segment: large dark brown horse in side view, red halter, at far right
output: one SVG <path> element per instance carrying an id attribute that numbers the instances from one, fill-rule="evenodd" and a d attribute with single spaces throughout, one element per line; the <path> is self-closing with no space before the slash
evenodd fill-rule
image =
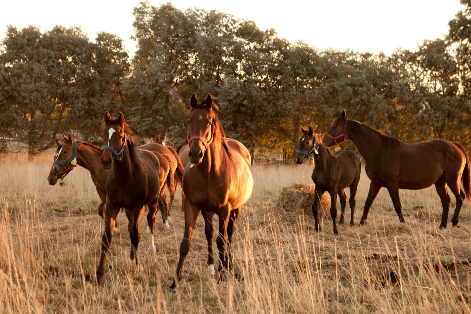
<path id="1" fill-rule="evenodd" d="M 407 144 L 348 118 L 343 110 L 323 141 L 329 147 L 345 140 L 352 140 L 357 145 L 365 159 L 366 175 L 371 179 L 360 224 L 365 223 L 368 210 L 382 187 L 388 189 L 399 221 L 403 223 L 399 189 L 420 190 L 432 184 L 435 184 L 443 206 L 440 228 L 447 227 L 450 207 L 447 185 L 456 198 L 451 221 L 454 226 L 458 224 L 464 198 L 471 199 L 470 160 L 461 144 L 447 140 Z M 460 179 L 464 193 L 460 190 Z"/>

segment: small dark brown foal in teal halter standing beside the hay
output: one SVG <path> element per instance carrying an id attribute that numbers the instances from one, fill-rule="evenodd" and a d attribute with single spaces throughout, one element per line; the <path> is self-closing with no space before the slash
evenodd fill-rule
<path id="1" fill-rule="evenodd" d="M 309 130 L 301 125 L 302 136 L 299 140 L 299 149 L 296 154 L 296 163 L 302 164 L 304 157 L 314 153 L 314 170 L 312 171 L 312 181 L 316 184 L 314 191 L 314 202 L 312 203 L 312 213 L 316 220 L 316 231 L 319 231 L 319 219 L 317 218 L 317 207 L 322 199 L 322 195 L 327 191 L 330 194 L 330 215 L 333 220 L 333 233 L 339 233 L 335 218 L 337 217 L 337 194 L 340 198 L 341 214 L 339 223 L 343 224 L 347 198 L 345 188 L 350 188 L 350 226 L 355 225 L 353 214 L 357 196 L 358 182 L 360 181 L 361 162 L 357 154 L 351 150 L 339 150 L 333 155 L 324 146 L 319 135 L 314 134 L 312 126 Z"/>

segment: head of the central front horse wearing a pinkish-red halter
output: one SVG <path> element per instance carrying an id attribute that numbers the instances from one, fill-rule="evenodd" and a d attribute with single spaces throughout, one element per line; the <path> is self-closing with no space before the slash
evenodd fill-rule
<path id="1" fill-rule="evenodd" d="M 192 164 L 201 164 L 204 153 L 216 134 L 216 116 L 212 112 L 212 97 L 208 94 L 205 101 L 198 105 L 196 94 L 191 96 L 191 111 L 187 119 L 187 139 L 190 145 L 188 156 Z"/>

